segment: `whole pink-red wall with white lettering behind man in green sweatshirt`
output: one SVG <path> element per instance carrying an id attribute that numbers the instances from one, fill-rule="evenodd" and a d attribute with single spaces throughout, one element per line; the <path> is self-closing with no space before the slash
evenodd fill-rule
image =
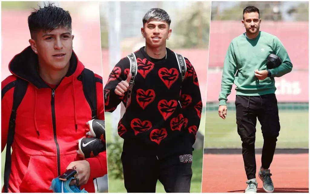
<path id="1" fill-rule="evenodd" d="M 228 30 L 229 29 L 229 30 Z M 309 23 L 262 21 L 260 30 L 276 35 L 293 63 L 289 74 L 276 79 L 278 102 L 309 101 Z M 244 33 L 241 21 L 211 21 L 209 69 L 223 68 L 228 46 L 233 38 Z M 207 102 L 218 102 L 222 73 L 208 74 Z M 228 102 L 235 100 L 235 85 Z"/>

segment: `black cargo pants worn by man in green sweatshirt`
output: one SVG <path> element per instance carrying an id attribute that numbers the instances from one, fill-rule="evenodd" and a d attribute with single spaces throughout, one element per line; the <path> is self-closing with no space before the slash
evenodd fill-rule
<path id="1" fill-rule="evenodd" d="M 248 179 L 255 178 L 255 133 L 259 120 L 263 133 L 262 167 L 268 169 L 276 149 L 280 131 L 279 111 L 275 94 L 236 96 L 237 130 L 242 141 L 242 156 Z"/>

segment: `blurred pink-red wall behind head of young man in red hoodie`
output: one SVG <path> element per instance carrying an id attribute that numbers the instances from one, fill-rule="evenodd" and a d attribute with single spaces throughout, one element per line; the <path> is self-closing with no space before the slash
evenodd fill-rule
<path id="1" fill-rule="evenodd" d="M 29 46 L 28 16 L 30 11 L 2 10 L 1 13 L 1 79 L 11 75 L 8 64 Z M 71 13 L 73 51 L 86 68 L 102 76 L 100 20 Z M 87 28 L 85 27 L 87 26 Z"/>

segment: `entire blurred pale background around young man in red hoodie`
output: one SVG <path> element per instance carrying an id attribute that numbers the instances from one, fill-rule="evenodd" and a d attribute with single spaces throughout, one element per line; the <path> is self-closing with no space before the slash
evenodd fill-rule
<path id="1" fill-rule="evenodd" d="M 47 3 L 47 2 L 45 2 Z M 100 49 L 100 18 L 98 2 L 54 2 L 68 10 L 72 18 L 73 51 L 86 68 L 102 76 Z M 30 33 L 28 16 L 33 8 L 43 6 L 44 2 L 1 2 L 1 81 L 11 73 L 8 64 L 18 53 L 29 46 Z M 84 37 L 84 38 L 82 38 Z M 1 153 L 1 186 L 5 150 Z M 107 176 L 97 178 L 96 192 L 108 192 Z"/>

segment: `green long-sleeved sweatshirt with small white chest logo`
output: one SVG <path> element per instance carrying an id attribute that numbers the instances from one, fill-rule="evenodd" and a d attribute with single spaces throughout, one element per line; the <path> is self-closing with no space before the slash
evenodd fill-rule
<path id="1" fill-rule="evenodd" d="M 271 53 L 279 56 L 282 64 L 270 70 L 271 77 L 258 80 L 254 71 L 267 70 L 267 57 Z M 219 105 L 226 105 L 233 83 L 236 85 L 237 95 L 261 96 L 275 93 L 274 77 L 281 77 L 292 68 L 290 57 L 276 36 L 260 31 L 256 38 L 249 39 L 245 33 L 241 34 L 232 40 L 225 57 Z"/>

